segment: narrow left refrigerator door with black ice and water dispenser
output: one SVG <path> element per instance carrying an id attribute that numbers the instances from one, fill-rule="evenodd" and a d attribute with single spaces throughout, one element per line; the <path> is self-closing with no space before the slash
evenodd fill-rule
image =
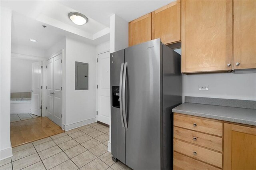
<path id="1" fill-rule="evenodd" d="M 119 105 L 122 63 L 124 63 L 124 50 L 110 54 L 111 152 L 114 158 L 125 164 L 125 128 L 122 127 Z"/>

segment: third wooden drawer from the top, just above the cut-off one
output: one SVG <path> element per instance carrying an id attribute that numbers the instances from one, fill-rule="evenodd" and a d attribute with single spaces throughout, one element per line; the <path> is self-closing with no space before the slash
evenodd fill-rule
<path id="1" fill-rule="evenodd" d="M 174 151 L 222 168 L 222 154 L 174 139 Z"/>

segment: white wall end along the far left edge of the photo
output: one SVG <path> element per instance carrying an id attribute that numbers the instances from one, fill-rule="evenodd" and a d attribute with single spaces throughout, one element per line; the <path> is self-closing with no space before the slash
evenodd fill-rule
<path id="1" fill-rule="evenodd" d="M 0 160 L 12 156 L 10 142 L 12 11 L 0 7 Z"/>

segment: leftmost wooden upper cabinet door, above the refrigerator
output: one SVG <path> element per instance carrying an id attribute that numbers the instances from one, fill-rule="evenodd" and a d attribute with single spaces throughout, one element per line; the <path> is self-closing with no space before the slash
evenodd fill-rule
<path id="1" fill-rule="evenodd" d="M 129 46 L 151 40 L 151 13 L 129 23 Z"/>

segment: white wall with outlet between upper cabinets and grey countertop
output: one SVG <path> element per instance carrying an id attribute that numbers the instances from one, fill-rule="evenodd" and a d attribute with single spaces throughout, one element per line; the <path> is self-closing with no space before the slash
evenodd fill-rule
<path id="1" fill-rule="evenodd" d="M 209 85 L 208 91 L 199 91 L 198 85 Z M 224 99 L 256 100 L 256 73 L 206 73 L 183 75 L 184 96 Z"/>

